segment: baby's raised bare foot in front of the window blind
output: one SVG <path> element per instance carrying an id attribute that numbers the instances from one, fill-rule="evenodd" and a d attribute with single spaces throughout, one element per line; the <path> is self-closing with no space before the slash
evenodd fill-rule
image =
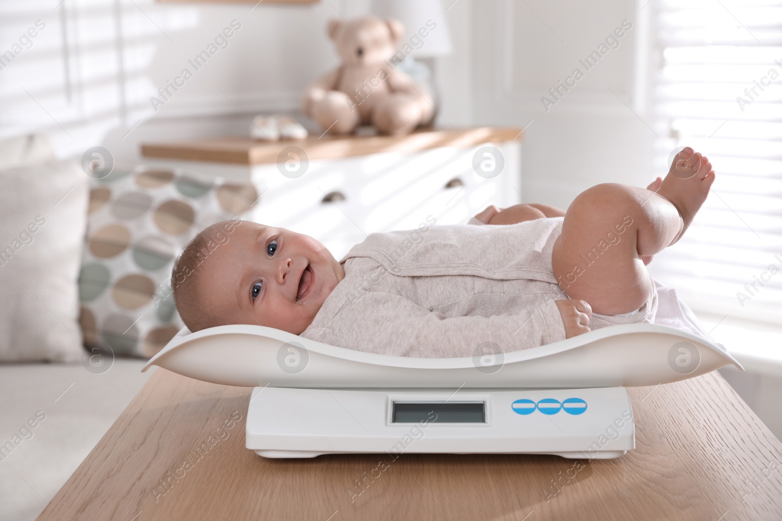
<path id="1" fill-rule="evenodd" d="M 682 219 L 681 230 L 671 244 L 679 241 L 684 231 L 690 227 L 692 219 L 708 196 L 714 178 L 712 163 L 690 147 L 684 148 L 673 158 L 671 170 L 656 191 L 676 206 Z"/>

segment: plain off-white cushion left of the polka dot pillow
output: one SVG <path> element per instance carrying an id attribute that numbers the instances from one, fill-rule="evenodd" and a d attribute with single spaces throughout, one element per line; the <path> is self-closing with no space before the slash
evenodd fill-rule
<path id="1" fill-rule="evenodd" d="M 30 150 L 20 156 L 41 158 Z M 81 357 L 77 277 L 88 180 L 77 161 L 0 170 L 0 362 Z"/>

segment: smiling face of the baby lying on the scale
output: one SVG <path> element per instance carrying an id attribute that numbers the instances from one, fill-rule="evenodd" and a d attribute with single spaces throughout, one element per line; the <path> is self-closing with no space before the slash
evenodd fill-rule
<path id="1" fill-rule="evenodd" d="M 210 253 L 199 295 L 225 324 L 260 324 L 300 334 L 345 277 L 314 238 L 242 221 Z"/>

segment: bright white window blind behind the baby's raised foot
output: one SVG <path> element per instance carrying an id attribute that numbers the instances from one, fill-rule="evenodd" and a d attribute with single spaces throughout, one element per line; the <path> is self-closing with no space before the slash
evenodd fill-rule
<path id="1" fill-rule="evenodd" d="M 780 324 L 782 2 L 656 0 L 646 9 L 659 163 L 689 145 L 717 174 L 687 234 L 650 272 L 696 311 Z"/>

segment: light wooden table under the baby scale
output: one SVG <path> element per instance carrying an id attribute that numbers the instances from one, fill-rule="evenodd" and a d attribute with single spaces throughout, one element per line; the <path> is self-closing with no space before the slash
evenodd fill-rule
<path id="1" fill-rule="evenodd" d="M 635 450 L 590 462 L 262 459 L 250 391 L 157 369 L 38 519 L 782 519 L 782 444 L 719 373 L 630 388 Z"/>

